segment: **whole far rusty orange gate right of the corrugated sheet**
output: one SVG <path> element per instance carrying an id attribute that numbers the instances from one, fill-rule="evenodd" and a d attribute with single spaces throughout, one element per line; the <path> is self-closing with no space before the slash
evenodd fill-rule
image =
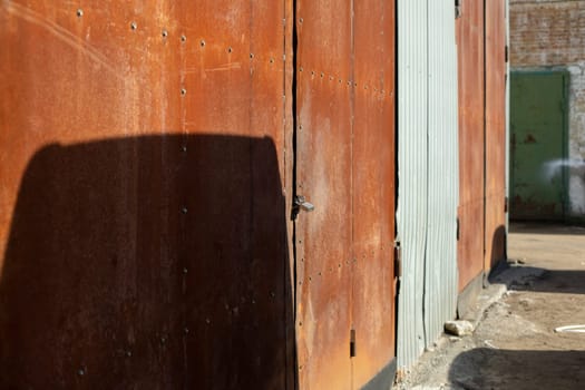
<path id="1" fill-rule="evenodd" d="M 460 7 L 459 291 L 505 257 L 506 236 L 506 1 Z"/>

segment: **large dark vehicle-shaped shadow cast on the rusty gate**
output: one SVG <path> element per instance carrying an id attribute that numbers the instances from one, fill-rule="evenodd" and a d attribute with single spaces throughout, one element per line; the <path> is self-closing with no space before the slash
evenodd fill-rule
<path id="1" fill-rule="evenodd" d="M 0 277 L 0 388 L 292 388 L 279 172 L 269 138 L 39 150 Z"/>

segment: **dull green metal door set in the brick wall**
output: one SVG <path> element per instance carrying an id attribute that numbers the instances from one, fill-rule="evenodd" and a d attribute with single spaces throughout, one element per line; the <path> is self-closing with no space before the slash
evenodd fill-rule
<path id="1" fill-rule="evenodd" d="M 563 220 L 568 74 L 513 72 L 510 81 L 510 217 Z"/>

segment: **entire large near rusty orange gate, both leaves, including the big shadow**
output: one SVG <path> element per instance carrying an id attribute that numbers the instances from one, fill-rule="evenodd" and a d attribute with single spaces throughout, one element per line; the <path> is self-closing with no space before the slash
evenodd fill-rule
<path id="1" fill-rule="evenodd" d="M 392 379 L 393 2 L 294 7 L 0 4 L 0 388 Z"/>

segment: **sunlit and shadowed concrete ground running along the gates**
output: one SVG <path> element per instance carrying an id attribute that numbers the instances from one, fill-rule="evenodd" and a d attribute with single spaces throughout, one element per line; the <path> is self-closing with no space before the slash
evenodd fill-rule
<path id="1" fill-rule="evenodd" d="M 396 389 L 585 389 L 585 228 L 513 224 L 474 334 L 445 335 Z M 506 289 L 504 289 L 506 286 Z"/>

